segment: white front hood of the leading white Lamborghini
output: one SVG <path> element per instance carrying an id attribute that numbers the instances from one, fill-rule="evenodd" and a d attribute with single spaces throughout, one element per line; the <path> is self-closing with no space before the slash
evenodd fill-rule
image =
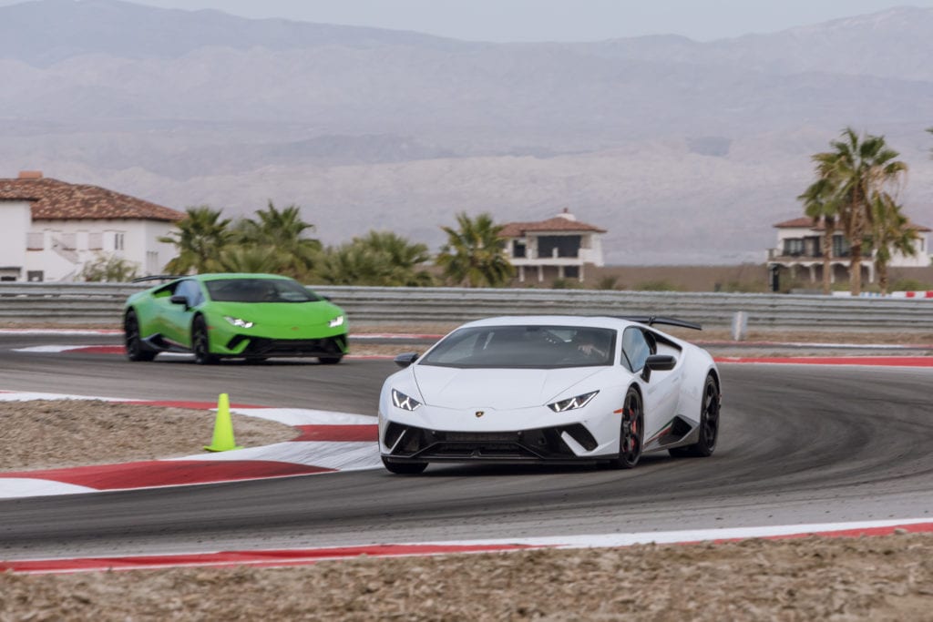
<path id="1" fill-rule="evenodd" d="M 560 369 L 461 369 L 412 366 L 418 390 L 440 408 L 530 408 L 542 406 L 606 367 Z"/>

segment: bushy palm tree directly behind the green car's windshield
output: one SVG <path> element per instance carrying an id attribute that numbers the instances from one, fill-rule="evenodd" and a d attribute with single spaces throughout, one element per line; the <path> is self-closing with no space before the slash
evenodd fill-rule
<path id="1" fill-rule="evenodd" d="M 306 236 L 314 226 L 301 220 L 297 205 L 283 210 L 269 201 L 265 210 L 257 210 L 257 220 L 245 218 L 237 224 L 236 240 L 245 246 L 275 249 L 278 256 L 276 272 L 303 278 L 313 269 L 321 251 L 321 242 Z"/>

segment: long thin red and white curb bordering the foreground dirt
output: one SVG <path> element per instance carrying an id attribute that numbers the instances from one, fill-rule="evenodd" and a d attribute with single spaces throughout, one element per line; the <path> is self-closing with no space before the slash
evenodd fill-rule
<path id="1" fill-rule="evenodd" d="M 347 560 L 367 557 L 416 557 L 457 553 L 511 552 L 532 548 L 618 548 L 660 544 L 689 545 L 702 542 L 726 543 L 749 538 L 786 539 L 811 535 L 826 537 L 861 537 L 894 533 L 933 532 L 933 522 L 926 518 L 874 520 L 811 525 L 780 525 L 680 532 L 610 533 L 554 536 L 543 538 L 508 538 L 462 540 L 412 544 L 371 544 L 324 548 L 289 548 L 273 550 L 213 551 L 173 555 L 135 555 L 124 557 L 0 560 L 0 572 L 20 574 L 65 574 L 113 570 L 152 570 L 179 567 L 283 567 L 313 564 L 324 560 Z"/>

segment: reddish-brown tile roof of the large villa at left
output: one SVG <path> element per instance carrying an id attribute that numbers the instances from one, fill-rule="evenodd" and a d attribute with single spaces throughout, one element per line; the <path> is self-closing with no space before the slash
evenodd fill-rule
<path id="1" fill-rule="evenodd" d="M 176 222 L 185 214 L 103 187 L 50 177 L 0 179 L 0 200 L 33 201 L 33 220 L 133 219 Z"/>

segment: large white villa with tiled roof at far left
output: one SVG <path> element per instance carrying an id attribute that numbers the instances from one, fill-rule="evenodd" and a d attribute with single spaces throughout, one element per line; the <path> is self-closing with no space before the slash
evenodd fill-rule
<path id="1" fill-rule="evenodd" d="M 0 178 L 0 280 L 76 281 L 100 256 L 159 274 L 174 246 L 159 242 L 185 214 L 37 171 Z"/>

